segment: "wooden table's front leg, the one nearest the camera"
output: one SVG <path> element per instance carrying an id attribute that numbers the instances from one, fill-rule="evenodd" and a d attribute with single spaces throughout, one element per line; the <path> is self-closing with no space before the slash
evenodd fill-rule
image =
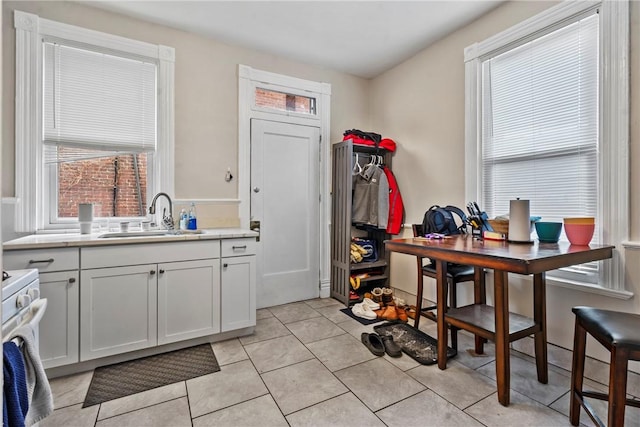
<path id="1" fill-rule="evenodd" d="M 506 271 L 494 271 L 494 298 L 496 316 L 496 380 L 498 401 L 509 406 L 510 360 L 509 360 L 509 290 Z"/>

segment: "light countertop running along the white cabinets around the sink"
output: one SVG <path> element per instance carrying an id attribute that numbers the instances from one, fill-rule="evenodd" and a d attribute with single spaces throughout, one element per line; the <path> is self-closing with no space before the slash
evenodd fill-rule
<path id="1" fill-rule="evenodd" d="M 138 243 L 164 243 L 197 240 L 233 239 L 241 237 L 257 237 L 255 231 L 243 228 L 215 228 L 201 230 L 202 233 L 166 234 L 160 236 L 132 236 L 117 238 L 101 238 L 104 233 L 80 234 L 32 234 L 9 240 L 2 244 L 3 250 L 69 248 L 86 246 L 129 245 Z"/>

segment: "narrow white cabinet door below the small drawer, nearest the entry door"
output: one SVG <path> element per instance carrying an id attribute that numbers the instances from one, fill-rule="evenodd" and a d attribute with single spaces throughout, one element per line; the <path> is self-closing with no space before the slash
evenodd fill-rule
<path id="1" fill-rule="evenodd" d="M 256 256 L 222 258 L 222 332 L 256 324 Z"/>

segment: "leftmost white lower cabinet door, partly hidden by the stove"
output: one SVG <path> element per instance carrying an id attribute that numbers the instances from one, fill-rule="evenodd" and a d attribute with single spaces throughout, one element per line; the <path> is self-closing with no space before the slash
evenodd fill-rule
<path id="1" fill-rule="evenodd" d="M 40 273 L 40 296 L 47 310 L 39 324 L 40 358 L 45 369 L 78 363 L 78 270 Z"/>

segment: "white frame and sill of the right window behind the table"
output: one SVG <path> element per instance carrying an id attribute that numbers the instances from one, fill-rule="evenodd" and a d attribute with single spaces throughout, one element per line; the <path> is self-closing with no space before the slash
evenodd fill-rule
<path id="1" fill-rule="evenodd" d="M 564 1 L 482 42 L 468 46 L 465 60 L 465 197 L 480 200 L 482 61 L 565 25 L 598 9 L 600 14 L 598 218 L 600 241 L 615 245 L 613 258 L 602 262 L 598 284 L 553 277 L 548 283 L 629 298 L 625 290 L 622 242 L 629 234 L 629 4 L 628 0 Z"/>

